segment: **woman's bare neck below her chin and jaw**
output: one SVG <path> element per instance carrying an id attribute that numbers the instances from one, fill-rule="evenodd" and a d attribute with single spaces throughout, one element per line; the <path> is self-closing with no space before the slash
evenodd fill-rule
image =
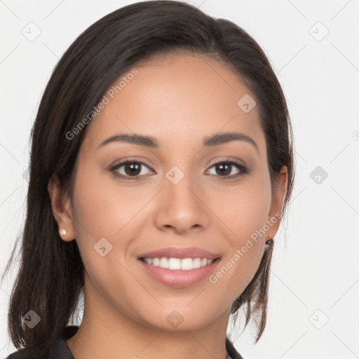
<path id="1" fill-rule="evenodd" d="M 226 359 L 228 320 L 226 311 L 193 330 L 161 329 L 138 323 L 85 293 L 82 323 L 67 345 L 76 359 Z"/>

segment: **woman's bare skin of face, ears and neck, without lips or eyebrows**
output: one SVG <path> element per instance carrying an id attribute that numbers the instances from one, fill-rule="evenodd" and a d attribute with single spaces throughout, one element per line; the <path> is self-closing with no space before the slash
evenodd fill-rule
<path id="1" fill-rule="evenodd" d="M 255 275 L 280 221 L 214 284 L 205 278 L 190 287 L 163 285 L 142 269 L 137 255 L 195 246 L 221 257 L 217 272 L 280 212 L 287 168 L 271 189 L 257 107 L 246 114 L 237 105 L 243 95 L 254 95 L 221 63 L 168 55 L 136 68 L 137 76 L 86 128 L 74 197 L 55 177 L 48 183 L 54 217 L 67 230 L 62 240 L 76 238 L 86 268 L 83 321 L 67 344 L 76 359 L 224 359 L 231 304 Z M 205 137 L 227 132 L 250 136 L 258 150 L 239 140 L 203 147 Z M 149 135 L 159 146 L 118 141 L 97 148 L 119 133 Z M 146 163 L 138 179 L 124 166 L 110 171 L 127 159 Z M 229 159 L 249 172 L 238 175 L 233 166 L 222 175 L 215 164 Z M 178 184 L 165 177 L 173 165 L 184 174 Z M 116 171 L 128 177 L 116 177 Z M 100 238 L 112 245 L 105 257 L 93 248 Z M 166 320 L 174 310 L 183 318 L 176 328 Z"/>

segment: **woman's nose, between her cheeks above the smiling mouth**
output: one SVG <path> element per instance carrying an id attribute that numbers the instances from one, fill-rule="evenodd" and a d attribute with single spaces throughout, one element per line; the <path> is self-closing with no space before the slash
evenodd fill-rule
<path id="1" fill-rule="evenodd" d="M 162 231 L 189 233 L 208 228 L 210 210 L 205 195 L 190 176 L 185 175 L 177 184 L 166 177 L 163 190 L 157 198 L 155 223 Z"/>

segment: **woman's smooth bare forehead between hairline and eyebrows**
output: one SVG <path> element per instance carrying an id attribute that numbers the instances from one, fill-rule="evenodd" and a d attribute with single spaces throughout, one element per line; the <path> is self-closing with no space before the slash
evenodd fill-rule
<path id="1" fill-rule="evenodd" d="M 257 106 L 248 113 L 238 106 L 243 96 L 254 95 L 222 63 L 198 55 L 158 55 L 134 68 L 135 76 L 127 76 L 130 69 L 109 88 L 109 103 L 89 125 L 87 146 L 116 133 L 153 135 L 171 144 L 236 130 L 264 140 L 258 138 L 263 134 Z"/>

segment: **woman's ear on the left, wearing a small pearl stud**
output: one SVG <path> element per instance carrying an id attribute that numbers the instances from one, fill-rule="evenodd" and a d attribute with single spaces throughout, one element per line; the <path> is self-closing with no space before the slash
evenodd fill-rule
<path id="1" fill-rule="evenodd" d="M 59 233 L 59 236 L 63 241 L 72 241 L 76 238 L 76 233 L 72 221 L 71 201 L 62 190 L 60 180 L 56 175 L 53 175 L 48 181 L 48 194 L 59 231 L 60 229 L 66 230 L 66 234 L 60 235 Z"/>

